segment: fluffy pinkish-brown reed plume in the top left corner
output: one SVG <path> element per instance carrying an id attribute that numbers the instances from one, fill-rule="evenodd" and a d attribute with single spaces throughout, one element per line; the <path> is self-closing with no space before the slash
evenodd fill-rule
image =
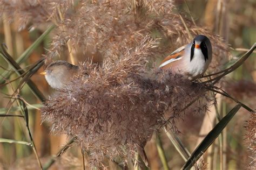
<path id="1" fill-rule="evenodd" d="M 0 2 L 0 15 L 5 13 L 5 18 L 10 22 L 16 23 L 19 31 L 26 27 L 32 28 L 45 23 L 57 23 L 59 20 L 57 9 L 60 8 L 62 12 L 66 12 L 71 8 L 73 2 L 65 1 L 35 1 L 35 0 L 21 0 L 21 1 L 6 1 Z"/>

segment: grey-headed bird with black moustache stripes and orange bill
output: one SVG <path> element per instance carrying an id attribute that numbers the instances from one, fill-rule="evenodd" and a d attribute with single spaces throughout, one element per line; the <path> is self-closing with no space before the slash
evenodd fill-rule
<path id="1" fill-rule="evenodd" d="M 190 44 L 167 56 L 159 68 L 170 69 L 173 73 L 183 74 L 193 81 L 203 76 L 211 61 L 211 41 L 206 36 L 199 35 Z"/>

